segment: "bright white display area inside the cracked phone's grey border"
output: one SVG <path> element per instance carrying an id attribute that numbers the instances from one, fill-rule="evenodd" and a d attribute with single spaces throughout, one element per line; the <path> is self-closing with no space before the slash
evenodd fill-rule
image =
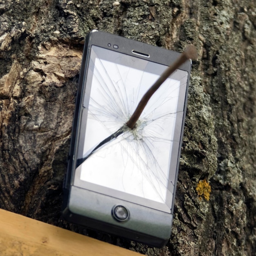
<path id="1" fill-rule="evenodd" d="M 95 58 L 83 157 L 128 121 L 158 77 Z M 126 128 L 78 166 L 80 179 L 164 203 L 179 90 L 180 81 L 167 79 L 148 101 L 137 128 Z"/>

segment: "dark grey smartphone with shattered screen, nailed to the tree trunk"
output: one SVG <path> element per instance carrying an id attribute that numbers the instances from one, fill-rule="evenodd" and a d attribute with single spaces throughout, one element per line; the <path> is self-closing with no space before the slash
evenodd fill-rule
<path id="1" fill-rule="evenodd" d="M 155 247 L 166 244 L 191 61 L 153 94 L 133 129 L 125 124 L 179 55 L 102 31 L 87 35 L 64 181 L 66 220 Z"/>

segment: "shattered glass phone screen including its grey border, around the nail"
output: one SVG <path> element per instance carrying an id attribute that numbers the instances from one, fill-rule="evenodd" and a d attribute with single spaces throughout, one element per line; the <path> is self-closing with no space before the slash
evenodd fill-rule
<path id="1" fill-rule="evenodd" d="M 165 69 L 92 46 L 74 185 L 170 212 L 188 72 L 175 71 L 150 98 L 135 128 L 125 125 Z M 120 135 L 106 140 L 121 127 Z"/>

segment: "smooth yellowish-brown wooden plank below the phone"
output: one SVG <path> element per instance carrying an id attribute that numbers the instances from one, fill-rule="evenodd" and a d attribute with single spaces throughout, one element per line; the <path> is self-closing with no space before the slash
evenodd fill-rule
<path id="1" fill-rule="evenodd" d="M 0 209 L 1 256 L 139 256 L 115 245 Z"/>

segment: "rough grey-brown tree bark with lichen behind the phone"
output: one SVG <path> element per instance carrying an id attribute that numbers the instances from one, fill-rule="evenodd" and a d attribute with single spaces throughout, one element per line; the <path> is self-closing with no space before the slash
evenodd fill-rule
<path id="1" fill-rule="evenodd" d="M 162 249 L 61 218 L 84 36 L 94 28 L 198 49 L 173 233 Z M 0 207 L 147 255 L 255 255 L 255 63 L 255 0 L 1 0 Z M 203 179 L 209 201 L 195 190 Z"/>

